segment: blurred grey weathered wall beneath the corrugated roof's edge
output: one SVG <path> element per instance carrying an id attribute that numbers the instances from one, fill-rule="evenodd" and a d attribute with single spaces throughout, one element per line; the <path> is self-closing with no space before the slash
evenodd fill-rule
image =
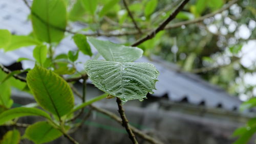
<path id="1" fill-rule="evenodd" d="M 33 102 L 29 98 L 14 98 L 17 104 L 27 104 Z M 116 114 L 117 106 L 113 105 L 115 100 L 110 103 L 96 103 L 96 105 L 106 108 Z M 112 103 L 113 102 L 113 103 Z M 155 107 L 158 107 L 157 109 Z M 178 108 L 180 107 L 180 108 Z M 196 108 L 181 111 L 181 106 L 173 106 L 170 109 L 159 107 L 154 104 L 144 108 L 125 106 L 125 112 L 129 121 L 135 127 L 145 133 L 161 139 L 164 143 L 173 144 L 228 144 L 233 142 L 231 134 L 234 129 L 242 126 L 245 118 L 233 118 L 231 114 L 218 114 L 206 112 L 196 114 Z M 193 113 L 194 111 L 194 113 Z M 20 123 L 32 124 L 42 119 L 37 117 L 24 117 Z M 0 137 L 9 130 L 10 127 L 0 127 Z M 24 130 L 20 128 L 20 130 Z M 130 144 L 124 128 L 113 121 L 110 117 L 98 112 L 93 112 L 90 118 L 83 125 L 82 129 L 72 134 L 79 143 L 122 143 Z M 138 138 L 139 143 L 148 143 Z M 23 143 L 31 143 L 23 140 Z M 60 137 L 50 143 L 70 143 L 65 137 Z"/>

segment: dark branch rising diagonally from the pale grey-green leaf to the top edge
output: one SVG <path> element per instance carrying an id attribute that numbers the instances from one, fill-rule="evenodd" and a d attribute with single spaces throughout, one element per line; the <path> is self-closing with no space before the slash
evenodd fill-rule
<path id="1" fill-rule="evenodd" d="M 189 0 L 184 0 L 175 10 L 172 14 L 170 14 L 170 16 L 164 20 L 161 25 L 156 29 L 154 30 L 153 32 L 151 32 L 150 34 L 148 34 L 147 36 L 145 36 L 144 38 L 138 40 L 137 42 L 135 42 L 134 44 L 132 44 L 132 46 L 137 46 L 141 43 L 143 43 L 144 41 L 146 40 L 149 40 L 149 39 L 152 39 L 153 37 L 156 36 L 156 34 L 162 30 L 164 30 L 165 26 L 170 22 L 172 21 L 176 15 L 183 9 L 183 7 L 188 3 Z"/>

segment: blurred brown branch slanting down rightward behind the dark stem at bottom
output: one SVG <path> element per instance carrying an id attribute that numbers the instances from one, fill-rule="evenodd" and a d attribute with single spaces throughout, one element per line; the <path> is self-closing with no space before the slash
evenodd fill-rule
<path id="1" fill-rule="evenodd" d="M 98 111 L 102 114 L 108 115 L 110 118 L 112 118 L 113 120 L 115 120 L 119 124 L 122 124 L 122 119 L 119 116 L 117 116 L 115 113 L 110 112 L 110 111 L 105 110 L 105 109 L 102 109 L 102 108 L 99 108 L 99 107 L 96 107 L 94 105 L 90 105 L 90 106 L 94 110 L 96 110 L 96 111 Z M 137 134 L 139 137 L 147 140 L 148 142 L 151 142 L 151 143 L 154 143 L 154 144 L 163 144 L 163 142 L 160 142 L 159 140 L 157 140 L 157 139 L 155 139 L 151 136 L 146 135 L 145 133 L 143 133 L 142 131 L 138 130 L 137 128 L 131 126 L 130 124 L 129 124 L 129 126 L 135 134 Z"/>

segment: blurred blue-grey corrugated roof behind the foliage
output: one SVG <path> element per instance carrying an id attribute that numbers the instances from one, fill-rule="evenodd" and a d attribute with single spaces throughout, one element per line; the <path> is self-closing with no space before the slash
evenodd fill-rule
<path id="1" fill-rule="evenodd" d="M 12 33 L 18 35 L 26 35 L 32 31 L 31 23 L 27 20 L 29 9 L 21 0 L 0 0 L 0 29 L 8 29 Z M 79 28 L 76 23 L 72 24 L 73 27 Z M 110 39 L 100 37 L 102 39 Z M 112 38 L 110 40 L 115 40 Z M 67 36 L 56 48 L 56 55 L 60 53 L 67 53 L 69 50 L 76 49 L 71 36 Z M 0 62 L 4 65 L 10 65 L 15 62 L 19 57 L 32 57 L 33 47 L 23 47 L 16 51 L 4 53 L 0 50 Z M 93 53 L 97 53 L 93 49 Z M 89 56 L 79 55 L 78 61 L 85 62 Z M 231 97 L 224 90 L 217 86 L 211 85 L 196 75 L 181 73 L 177 66 L 163 61 L 158 57 L 152 58 L 154 61 L 142 57 L 137 62 L 150 62 L 153 63 L 160 72 L 159 82 L 156 83 L 155 97 L 163 97 L 167 94 L 171 101 L 182 101 L 186 99 L 188 103 L 199 105 L 204 103 L 206 107 L 218 107 L 227 110 L 237 109 L 241 101 L 235 97 Z M 32 68 L 34 63 L 31 61 L 22 62 L 23 68 Z M 83 69 L 83 64 L 77 65 L 78 70 Z"/>

